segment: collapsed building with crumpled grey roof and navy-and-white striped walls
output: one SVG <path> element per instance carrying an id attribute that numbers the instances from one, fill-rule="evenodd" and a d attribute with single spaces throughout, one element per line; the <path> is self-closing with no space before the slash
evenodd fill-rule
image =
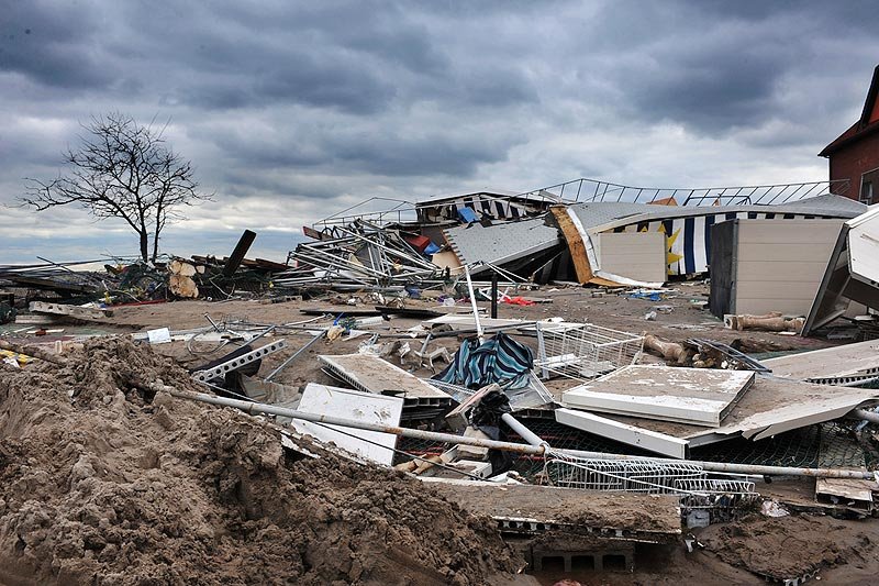
<path id="1" fill-rule="evenodd" d="M 830 189 L 830 181 L 659 189 L 578 179 L 518 195 L 412 203 L 374 198 L 305 228 L 313 241 L 290 253 L 296 268 L 278 283 L 338 283 L 343 276 L 380 281 L 391 276 L 379 267 L 389 255 L 399 265 L 397 281 L 458 275 L 467 266 L 471 275 L 501 270 L 544 284 L 658 286 L 706 274 L 711 231 L 723 222 L 838 221 L 866 211 Z M 338 259 L 346 272 L 327 272 Z"/>

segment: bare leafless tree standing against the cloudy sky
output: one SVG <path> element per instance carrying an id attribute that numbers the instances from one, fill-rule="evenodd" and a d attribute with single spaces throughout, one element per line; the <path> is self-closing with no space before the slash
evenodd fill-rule
<path id="1" fill-rule="evenodd" d="M 211 197 L 197 191 L 191 162 L 167 145 L 164 128 L 119 112 L 82 128 L 81 145 L 64 153 L 69 170 L 51 181 L 26 178 L 20 201 L 37 211 L 75 203 L 98 219 L 120 218 L 137 233 L 143 261 L 155 262 L 163 229 L 185 219 L 180 208 Z"/>

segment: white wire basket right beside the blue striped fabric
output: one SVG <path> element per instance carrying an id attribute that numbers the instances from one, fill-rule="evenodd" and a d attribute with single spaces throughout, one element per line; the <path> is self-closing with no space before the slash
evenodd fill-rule
<path id="1" fill-rule="evenodd" d="M 537 323 L 535 367 L 544 378 L 550 373 L 588 380 L 623 366 L 641 356 L 644 336 L 591 323 L 546 325 Z"/>

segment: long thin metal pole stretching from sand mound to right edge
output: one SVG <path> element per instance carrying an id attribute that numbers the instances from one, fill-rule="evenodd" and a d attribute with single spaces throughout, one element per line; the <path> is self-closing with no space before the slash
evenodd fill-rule
<path id="1" fill-rule="evenodd" d="M 276 407 L 274 405 L 264 405 L 251 401 L 241 401 L 237 399 L 227 399 L 225 397 L 215 397 L 204 392 L 188 392 L 177 390 L 174 387 L 166 385 L 152 384 L 147 388 L 154 391 L 165 391 L 173 397 L 181 399 L 190 399 L 194 401 L 208 402 L 211 405 L 220 405 L 223 407 L 235 407 L 242 411 L 254 414 L 264 413 L 271 416 L 289 417 L 291 419 L 300 419 L 303 421 L 311 421 L 314 423 L 326 423 L 330 425 L 342 425 L 345 428 L 363 429 L 369 431 L 380 431 L 383 433 L 392 433 L 403 438 L 414 438 L 419 440 L 430 440 L 436 442 L 455 443 L 463 445 L 476 445 L 480 447 L 488 447 L 490 450 L 502 450 L 505 452 L 516 452 L 527 455 L 552 456 L 553 454 L 564 456 L 582 457 L 588 460 L 628 460 L 638 462 L 657 462 L 665 464 L 693 464 L 701 466 L 708 472 L 727 472 L 733 474 L 747 474 L 747 475 L 761 475 L 761 476 L 812 476 L 821 478 L 860 478 L 874 479 L 874 474 L 870 472 L 853 471 L 853 469 L 838 469 L 838 468 L 794 468 L 785 466 L 753 466 L 748 464 L 725 464 L 722 462 L 699 462 L 693 460 L 672 460 L 672 458 L 656 458 L 645 456 L 630 456 L 623 454 L 607 454 L 602 452 L 582 452 L 579 450 L 555 450 L 549 447 L 531 430 L 524 425 L 523 430 L 527 430 L 527 434 L 533 441 L 541 441 L 541 445 L 526 445 L 512 442 L 499 442 L 496 440 L 480 440 L 478 438 L 465 438 L 463 435 L 455 435 L 452 433 L 438 433 L 435 431 L 422 431 L 409 428 L 399 428 L 393 425 L 382 425 L 380 423 L 367 423 L 365 421 L 352 421 L 332 416 L 320 416 L 314 413 L 304 413 L 296 409 L 286 409 L 283 407 Z M 511 418 L 512 419 L 512 418 Z M 513 419 L 515 421 L 515 419 Z M 515 423 L 519 423 L 515 421 Z M 515 424 L 514 423 L 514 424 Z M 508 422 L 508 424 L 510 424 Z M 521 423 L 520 423 L 521 425 Z M 511 425 L 512 427 L 512 425 Z M 515 429 L 514 429 L 515 430 Z M 515 430 L 519 432 L 519 430 Z M 525 435 L 522 435 L 523 438 Z"/>

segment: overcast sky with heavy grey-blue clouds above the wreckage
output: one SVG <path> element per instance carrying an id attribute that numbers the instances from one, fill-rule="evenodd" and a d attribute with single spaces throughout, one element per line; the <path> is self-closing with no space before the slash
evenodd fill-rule
<path id="1" fill-rule="evenodd" d="M 0 204 L 113 110 L 170 119 L 215 192 L 166 230 L 181 255 L 252 229 L 282 261 L 370 196 L 820 180 L 877 63 L 875 2 L 0 0 Z M 0 263 L 135 252 L 0 207 Z"/>

